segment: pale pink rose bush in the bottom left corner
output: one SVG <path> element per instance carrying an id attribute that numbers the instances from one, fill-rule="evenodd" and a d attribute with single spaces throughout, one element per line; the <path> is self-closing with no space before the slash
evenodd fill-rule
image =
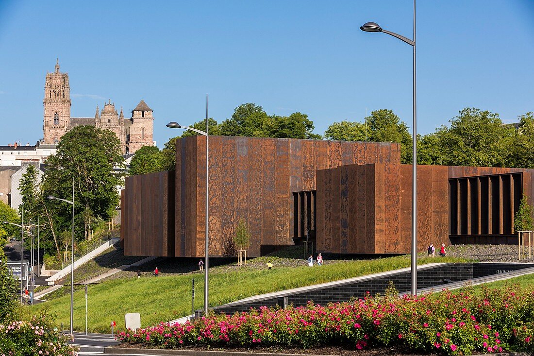
<path id="1" fill-rule="evenodd" d="M 68 345 L 70 335 L 51 330 L 45 316 L 34 316 L 31 321 L 13 321 L 0 324 L 0 355 L 26 356 L 75 355 Z"/>

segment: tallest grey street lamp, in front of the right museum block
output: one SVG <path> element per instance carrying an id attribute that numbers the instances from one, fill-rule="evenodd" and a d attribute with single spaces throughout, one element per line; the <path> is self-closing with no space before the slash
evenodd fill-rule
<path id="1" fill-rule="evenodd" d="M 384 30 L 375 22 L 367 22 L 362 27 L 365 32 L 383 32 L 398 38 L 413 47 L 413 122 L 412 122 L 412 263 L 411 289 L 412 296 L 417 295 L 417 91 L 415 86 L 415 0 L 413 0 L 413 41 L 409 38 Z"/>

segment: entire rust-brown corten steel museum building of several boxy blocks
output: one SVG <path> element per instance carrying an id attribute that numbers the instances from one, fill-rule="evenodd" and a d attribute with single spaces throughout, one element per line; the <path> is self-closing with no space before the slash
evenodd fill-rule
<path id="1" fill-rule="evenodd" d="M 206 137 L 176 142 L 176 172 L 130 176 L 121 238 L 133 256 L 202 257 Z M 418 249 L 513 241 L 532 169 L 418 166 Z M 409 253 L 410 165 L 397 143 L 209 137 L 209 254 L 229 256 L 240 219 L 248 256 L 308 238 L 318 252 Z"/>

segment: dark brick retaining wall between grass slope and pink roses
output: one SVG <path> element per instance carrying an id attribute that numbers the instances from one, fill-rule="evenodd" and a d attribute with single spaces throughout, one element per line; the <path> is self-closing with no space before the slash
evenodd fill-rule
<path id="1" fill-rule="evenodd" d="M 532 264 L 447 264 L 437 267 L 419 269 L 417 272 L 417 286 L 419 289 L 429 287 L 446 287 L 446 283 L 470 280 L 477 277 L 488 276 L 497 273 L 509 272 L 522 268 L 532 267 Z M 313 267 L 320 268 L 320 267 Z M 348 282 L 332 287 L 309 289 L 302 292 L 284 293 L 280 296 L 287 296 L 289 304 L 302 306 L 313 300 L 316 304 L 327 304 L 333 301 L 348 301 L 351 298 L 362 298 L 366 292 L 371 295 L 384 293 L 389 281 L 395 284 L 399 292 L 410 291 L 410 272 L 391 274 L 385 277 L 368 278 L 356 282 Z M 251 307 L 278 305 L 277 297 L 244 302 L 238 305 L 222 305 L 213 308 L 216 313 L 224 312 L 233 314 L 235 312 L 245 312 Z"/>

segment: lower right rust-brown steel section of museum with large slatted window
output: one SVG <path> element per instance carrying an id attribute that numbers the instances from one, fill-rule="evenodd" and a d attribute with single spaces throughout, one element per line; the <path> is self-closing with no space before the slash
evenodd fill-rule
<path id="1" fill-rule="evenodd" d="M 515 243 L 514 215 L 532 169 L 418 165 L 418 250 L 430 243 Z M 348 165 L 317 172 L 317 248 L 409 253 L 412 166 Z"/>

